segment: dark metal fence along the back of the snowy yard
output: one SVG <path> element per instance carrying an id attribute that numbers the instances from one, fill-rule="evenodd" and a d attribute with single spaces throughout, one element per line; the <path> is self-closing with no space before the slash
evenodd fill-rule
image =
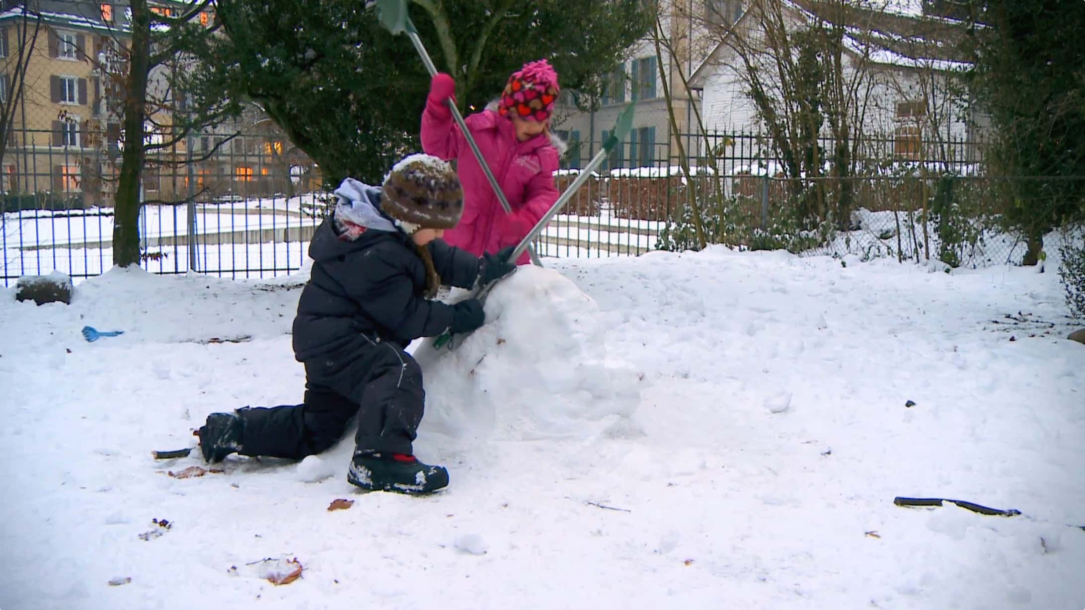
<path id="1" fill-rule="evenodd" d="M 54 270 L 74 278 L 107 270 L 119 164 L 113 139 L 81 134 L 75 142 L 30 130 L 13 136 L 2 161 L 4 284 Z M 664 139 L 635 131 L 547 226 L 536 252 L 597 257 L 692 246 L 692 202 L 710 242 L 742 247 L 902 260 L 953 254 L 956 264 L 971 265 L 1013 262 L 1023 252 L 996 229 L 998 202 L 1006 198 L 999 180 L 983 176 L 976 142 L 902 150 L 892 138 L 867 138 L 856 148 L 863 151 L 855 162 L 860 175 L 837 179 L 787 178 L 766 139 L 754 134 Z M 232 140 L 202 134 L 187 143 L 159 153 L 145 169 L 142 265 L 156 274 L 245 278 L 301 268 L 331 199 L 321 190 L 319 168 L 273 134 Z M 600 148 L 597 141 L 570 144 L 559 189 Z M 831 141 L 825 151 L 831 153 Z M 796 209 L 820 217 L 845 213 L 826 226 L 804 221 Z"/>

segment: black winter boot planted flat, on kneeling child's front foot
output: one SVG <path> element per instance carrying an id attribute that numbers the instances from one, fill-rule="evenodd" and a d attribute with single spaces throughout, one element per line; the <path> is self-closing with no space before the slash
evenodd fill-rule
<path id="1" fill-rule="evenodd" d="M 414 456 L 359 452 L 350 460 L 346 480 L 373 492 L 429 494 L 448 485 L 448 471 L 422 463 Z"/>

